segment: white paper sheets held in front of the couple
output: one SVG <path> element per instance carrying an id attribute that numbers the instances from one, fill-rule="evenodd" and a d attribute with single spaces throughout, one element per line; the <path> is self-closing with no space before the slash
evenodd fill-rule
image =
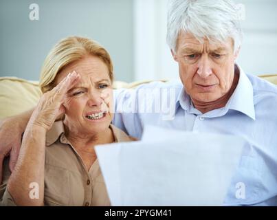
<path id="1" fill-rule="evenodd" d="M 247 142 L 144 129 L 140 142 L 96 146 L 112 206 L 221 206 Z"/>

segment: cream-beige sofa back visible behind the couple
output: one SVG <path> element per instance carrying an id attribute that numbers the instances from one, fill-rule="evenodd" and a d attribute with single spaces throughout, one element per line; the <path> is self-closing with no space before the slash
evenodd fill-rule
<path id="1" fill-rule="evenodd" d="M 277 75 L 263 75 L 260 77 L 277 85 Z M 113 87 L 115 89 L 132 88 L 149 82 L 124 83 L 115 81 Z M 36 105 L 40 96 L 41 91 L 36 81 L 16 77 L 0 77 L 0 120 L 31 109 Z"/>

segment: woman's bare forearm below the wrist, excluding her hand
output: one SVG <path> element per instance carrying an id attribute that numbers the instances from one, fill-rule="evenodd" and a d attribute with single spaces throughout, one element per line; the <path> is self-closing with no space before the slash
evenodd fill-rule
<path id="1" fill-rule="evenodd" d="M 43 206 L 45 135 L 42 126 L 28 124 L 19 159 L 8 181 L 8 192 L 18 206 Z"/>

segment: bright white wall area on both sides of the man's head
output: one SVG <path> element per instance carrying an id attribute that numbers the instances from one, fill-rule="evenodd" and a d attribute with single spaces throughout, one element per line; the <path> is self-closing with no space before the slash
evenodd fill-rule
<path id="1" fill-rule="evenodd" d="M 135 79 L 179 78 L 166 45 L 167 0 L 135 0 Z M 277 1 L 241 0 L 245 32 L 238 63 L 251 74 L 277 74 Z"/>

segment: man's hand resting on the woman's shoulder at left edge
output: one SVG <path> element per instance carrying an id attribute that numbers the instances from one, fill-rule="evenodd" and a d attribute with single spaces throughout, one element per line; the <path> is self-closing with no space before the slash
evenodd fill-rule
<path id="1" fill-rule="evenodd" d="M 6 118 L 0 122 L 0 183 L 2 181 L 3 159 L 10 155 L 10 170 L 14 170 L 25 131 L 34 109 Z"/>

